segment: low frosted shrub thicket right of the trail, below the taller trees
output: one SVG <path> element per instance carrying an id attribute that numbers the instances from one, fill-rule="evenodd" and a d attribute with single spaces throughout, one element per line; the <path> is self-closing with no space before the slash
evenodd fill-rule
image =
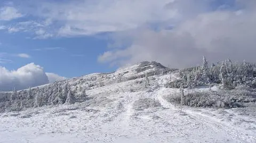
<path id="1" fill-rule="evenodd" d="M 181 95 L 164 96 L 167 102 L 180 104 Z M 183 96 L 182 104 L 194 107 L 242 107 L 243 103 L 256 102 L 256 95 L 247 90 L 194 91 Z"/>

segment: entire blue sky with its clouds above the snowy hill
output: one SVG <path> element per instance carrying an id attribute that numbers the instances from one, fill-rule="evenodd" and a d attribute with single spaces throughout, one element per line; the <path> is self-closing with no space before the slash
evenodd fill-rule
<path id="1" fill-rule="evenodd" d="M 200 64 L 203 55 L 256 62 L 255 6 L 254 0 L 1 1 L 0 87 L 146 60 L 172 68 Z"/>

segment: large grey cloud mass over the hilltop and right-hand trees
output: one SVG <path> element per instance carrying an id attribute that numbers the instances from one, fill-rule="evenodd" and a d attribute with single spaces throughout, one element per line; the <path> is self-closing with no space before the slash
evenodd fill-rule
<path id="1" fill-rule="evenodd" d="M 256 2 L 252 2 L 237 11 L 191 11 L 193 14 L 182 11 L 180 17 L 185 19 L 176 23 L 171 30 L 139 28 L 118 33 L 118 37 L 114 37 L 116 43 L 125 43 L 131 37 L 132 43 L 126 48 L 109 49 L 99 56 L 98 61 L 125 65 L 154 60 L 166 66 L 182 68 L 200 64 L 205 55 L 211 62 L 226 58 L 256 62 L 256 11 L 253 8 Z M 190 9 L 198 7 L 196 4 L 190 4 Z M 179 6 L 186 7 L 182 3 Z M 235 7 L 242 6 L 236 3 Z"/>

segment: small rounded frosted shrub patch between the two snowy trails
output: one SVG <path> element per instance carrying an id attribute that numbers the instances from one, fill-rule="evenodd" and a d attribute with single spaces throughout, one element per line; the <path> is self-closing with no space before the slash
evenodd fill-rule
<path id="1" fill-rule="evenodd" d="M 161 104 L 151 98 L 141 98 L 133 103 L 134 110 L 145 110 L 147 108 L 159 107 Z"/>

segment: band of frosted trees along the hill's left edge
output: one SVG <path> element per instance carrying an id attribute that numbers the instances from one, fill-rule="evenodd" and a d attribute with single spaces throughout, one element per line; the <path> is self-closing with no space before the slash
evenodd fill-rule
<path id="1" fill-rule="evenodd" d="M 84 95 L 83 95 L 84 94 Z M 26 107 L 40 107 L 44 105 L 74 104 L 76 98 L 84 98 L 86 90 L 81 93 L 71 90 L 70 84 L 55 82 L 42 88 L 29 88 L 13 92 L 0 92 L 0 111 L 17 111 Z M 80 99 L 81 100 L 81 99 Z"/>

